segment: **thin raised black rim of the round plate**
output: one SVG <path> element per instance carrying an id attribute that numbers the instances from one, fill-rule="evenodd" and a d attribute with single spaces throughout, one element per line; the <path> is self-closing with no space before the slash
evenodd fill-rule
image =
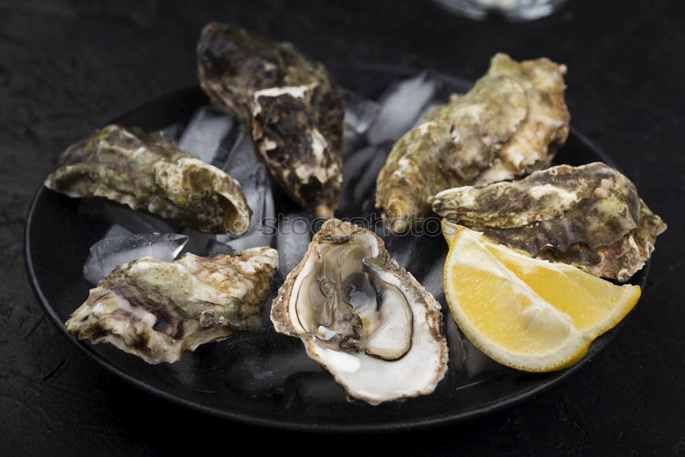
<path id="1" fill-rule="evenodd" d="M 386 72 L 392 72 L 397 75 L 412 75 L 419 73 L 425 69 L 413 69 L 407 66 L 394 66 L 394 65 L 385 65 L 385 64 L 330 64 L 328 68 L 340 68 L 341 66 L 346 66 L 346 67 L 354 67 L 357 69 L 366 69 L 367 71 L 386 71 Z M 332 72 L 334 73 L 334 72 Z M 453 77 L 451 75 L 447 75 L 445 73 L 440 73 L 441 77 L 445 77 L 446 79 L 452 79 L 453 81 L 458 81 L 458 82 L 464 82 L 467 81 L 466 79 L 461 79 L 458 77 Z M 151 97 L 142 103 L 138 103 L 136 106 L 133 106 L 132 108 L 128 108 L 126 110 L 123 110 L 119 115 L 114 116 L 112 120 L 108 123 L 116 122 L 117 119 L 121 119 L 124 116 L 127 116 L 127 114 L 130 114 L 132 112 L 135 112 L 136 110 L 139 110 L 142 108 L 142 106 L 146 106 L 149 103 L 152 103 L 153 101 L 163 99 L 164 97 L 173 97 L 180 95 L 182 93 L 187 93 L 193 90 L 198 90 L 199 89 L 199 84 L 194 84 L 192 86 L 185 86 L 182 88 L 177 88 L 175 90 L 170 90 L 168 92 L 162 93 L 162 95 L 158 95 L 156 97 Z M 103 125 L 107 125 L 108 123 L 105 123 Z M 608 156 L 603 149 L 601 149 L 599 146 L 597 146 L 595 143 L 590 141 L 584 134 L 581 134 L 578 132 L 574 127 L 570 127 L 570 133 L 573 134 L 576 138 L 578 138 L 584 145 L 586 145 L 589 149 L 592 149 L 593 152 L 599 157 L 603 162 L 606 164 L 619 169 L 619 167 L 616 166 L 616 163 L 610 156 Z M 620 169 L 619 169 L 620 171 Z M 50 171 L 51 173 L 51 171 Z M 49 174 L 49 173 L 48 173 Z M 47 177 L 47 175 L 46 175 Z M 95 349 L 93 349 L 90 345 L 78 341 L 77 339 L 73 338 L 69 332 L 66 331 L 66 327 L 64 323 L 62 322 L 62 319 L 58 316 L 57 312 L 53 309 L 53 307 L 49 304 L 49 300 L 43 293 L 42 289 L 40 288 L 40 284 L 38 282 L 38 278 L 36 277 L 36 273 L 34 271 L 34 261 L 31 255 L 31 227 L 33 225 L 33 217 L 36 212 L 36 205 L 38 203 L 38 200 L 40 197 L 45 193 L 46 188 L 43 185 L 43 182 L 45 181 L 45 178 L 40 182 L 40 186 L 38 187 L 38 190 L 36 190 L 36 193 L 34 194 L 34 197 L 32 197 L 32 201 L 29 205 L 29 209 L 27 212 L 27 217 L 26 217 L 26 222 L 25 222 L 25 229 L 24 229 L 24 246 L 23 246 L 23 256 L 24 256 L 24 264 L 25 264 L 25 269 L 27 273 L 27 277 L 29 278 L 29 283 L 31 284 L 31 288 L 34 291 L 34 295 L 36 295 L 36 298 L 38 299 L 38 302 L 42 309 L 45 311 L 47 316 L 49 317 L 49 320 L 55 325 L 55 327 L 58 328 L 60 331 L 60 334 L 67 338 L 73 345 L 78 347 L 90 360 L 93 360 L 105 369 L 105 371 L 108 371 L 108 373 L 111 373 L 112 375 L 115 375 L 116 377 L 119 377 L 121 380 L 124 380 L 125 382 L 128 382 L 132 386 L 135 386 L 136 388 L 139 388 L 140 390 L 146 392 L 146 393 L 151 393 L 152 395 L 155 395 L 155 397 L 158 397 L 160 399 L 164 399 L 166 401 L 172 402 L 173 404 L 177 404 L 179 406 L 184 406 L 185 408 L 190 408 L 199 412 L 206 413 L 208 415 L 211 415 L 213 417 L 221 417 L 223 419 L 230 419 L 242 423 L 247 423 L 249 425 L 258 425 L 266 428 L 273 428 L 273 429 L 279 429 L 279 430 L 290 430 L 290 431 L 297 431 L 297 432 L 327 432 L 327 433 L 374 433 L 374 432 L 402 432 L 402 431 L 410 431 L 410 430 L 423 430 L 426 428 L 435 428 L 439 427 L 442 425 L 451 425 L 454 423 L 460 423 L 464 421 L 469 421 L 473 419 L 477 419 L 479 417 L 484 417 L 486 415 L 493 414 L 495 412 L 510 408 L 516 404 L 520 404 L 523 402 L 525 399 L 529 399 L 530 397 L 533 397 L 534 395 L 537 395 L 539 393 L 542 393 L 543 391 L 546 391 L 548 388 L 551 388 L 551 386 L 554 386 L 556 384 L 559 384 L 563 380 L 566 380 L 569 378 L 570 375 L 575 373 L 578 369 L 586 365 L 586 363 L 595 355 L 599 354 L 605 347 L 608 345 L 608 343 L 614 338 L 614 336 L 617 334 L 617 332 L 620 330 L 621 327 L 623 327 L 623 323 L 625 322 L 625 318 L 618 324 L 616 327 L 614 327 L 612 330 L 606 332 L 605 334 L 601 335 L 599 338 L 597 338 L 595 341 L 593 341 L 593 346 L 594 350 L 592 354 L 585 354 L 581 360 L 579 360 L 575 365 L 572 365 L 569 368 L 563 369 L 561 371 L 554 372 L 554 376 L 551 378 L 548 378 L 546 380 L 543 380 L 540 382 L 540 384 L 537 384 L 536 386 L 532 386 L 530 388 L 527 388 L 523 391 L 519 391 L 514 395 L 510 395 L 508 397 L 503 397 L 495 400 L 494 402 L 489 402 L 484 404 L 483 406 L 479 406 L 477 408 L 471 408 L 469 410 L 462 410 L 460 412 L 445 412 L 444 414 L 440 415 L 432 415 L 428 417 L 423 417 L 423 418 L 410 418 L 410 419 L 395 419 L 395 420 L 389 420 L 389 421 L 384 421 L 384 422 L 377 422 L 377 423 L 364 423 L 364 424 L 353 424 L 353 423 L 341 423 L 338 425 L 332 425 L 329 423 L 319 423 L 316 422 L 314 418 L 306 418 L 304 421 L 297 421 L 293 419 L 264 419 L 261 417 L 257 417 L 254 415 L 245 415 L 239 412 L 233 412 L 231 410 L 225 410 L 221 408 L 212 408 L 210 406 L 206 406 L 204 404 L 200 404 L 198 402 L 194 402 L 192 400 L 188 400 L 184 397 L 174 395 L 173 393 L 169 393 L 167 391 L 164 391 L 160 388 L 156 388 L 155 386 L 151 386 L 150 384 L 147 384 L 145 382 L 142 382 L 138 380 L 136 377 L 133 375 L 129 375 L 125 371 L 122 371 L 119 369 L 119 367 L 116 367 L 116 365 L 111 364 L 108 362 L 107 359 L 105 359 L 103 356 L 97 353 Z M 643 267 L 643 275 L 646 278 L 649 275 L 649 267 L 651 265 L 651 258 L 647 260 L 645 263 L 645 266 Z M 630 316 L 630 313 L 629 315 Z M 628 317 L 627 316 L 627 317 Z M 592 347 L 592 346 L 591 346 Z M 588 349 L 589 352 L 589 349 Z"/>

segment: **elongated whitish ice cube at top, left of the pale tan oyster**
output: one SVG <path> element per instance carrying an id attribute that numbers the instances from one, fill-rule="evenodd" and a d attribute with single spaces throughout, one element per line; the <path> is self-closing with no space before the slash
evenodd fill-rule
<path id="1" fill-rule="evenodd" d="M 433 71 L 404 79 L 390 86 L 379 98 L 380 111 L 369 128 L 369 141 L 397 140 L 419 119 L 440 91 L 442 82 Z"/>

